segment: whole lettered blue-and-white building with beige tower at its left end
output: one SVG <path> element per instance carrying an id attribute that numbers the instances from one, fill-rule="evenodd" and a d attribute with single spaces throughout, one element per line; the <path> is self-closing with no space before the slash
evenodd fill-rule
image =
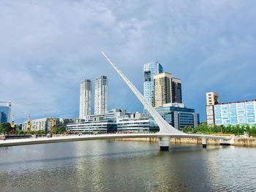
<path id="1" fill-rule="evenodd" d="M 219 95 L 206 93 L 208 125 L 256 124 L 256 100 L 219 103 Z"/>

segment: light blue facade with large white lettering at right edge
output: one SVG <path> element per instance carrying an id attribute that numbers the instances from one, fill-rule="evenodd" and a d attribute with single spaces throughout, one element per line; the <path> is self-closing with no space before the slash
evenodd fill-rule
<path id="1" fill-rule="evenodd" d="M 214 105 L 214 123 L 217 125 L 256 124 L 256 100 Z"/>

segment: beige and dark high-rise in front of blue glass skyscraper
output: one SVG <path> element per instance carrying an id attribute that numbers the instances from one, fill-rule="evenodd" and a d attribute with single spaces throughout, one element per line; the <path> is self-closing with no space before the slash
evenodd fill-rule
<path id="1" fill-rule="evenodd" d="M 181 80 L 167 72 L 154 76 L 153 107 L 168 103 L 182 103 Z"/>

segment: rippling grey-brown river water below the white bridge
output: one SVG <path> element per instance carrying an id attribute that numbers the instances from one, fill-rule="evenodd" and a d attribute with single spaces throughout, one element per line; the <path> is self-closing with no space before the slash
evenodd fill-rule
<path id="1" fill-rule="evenodd" d="M 0 191 L 256 191 L 256 148 L 83 141 L 0 148 Z"/>

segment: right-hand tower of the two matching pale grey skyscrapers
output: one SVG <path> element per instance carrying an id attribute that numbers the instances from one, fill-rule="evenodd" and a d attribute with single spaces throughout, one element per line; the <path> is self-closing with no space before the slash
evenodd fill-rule
<path id="1" fill-rule="evenodd" d="M 99 76 L 95 80 L 94 114 L 108 112 L 108 78 Z"/>

